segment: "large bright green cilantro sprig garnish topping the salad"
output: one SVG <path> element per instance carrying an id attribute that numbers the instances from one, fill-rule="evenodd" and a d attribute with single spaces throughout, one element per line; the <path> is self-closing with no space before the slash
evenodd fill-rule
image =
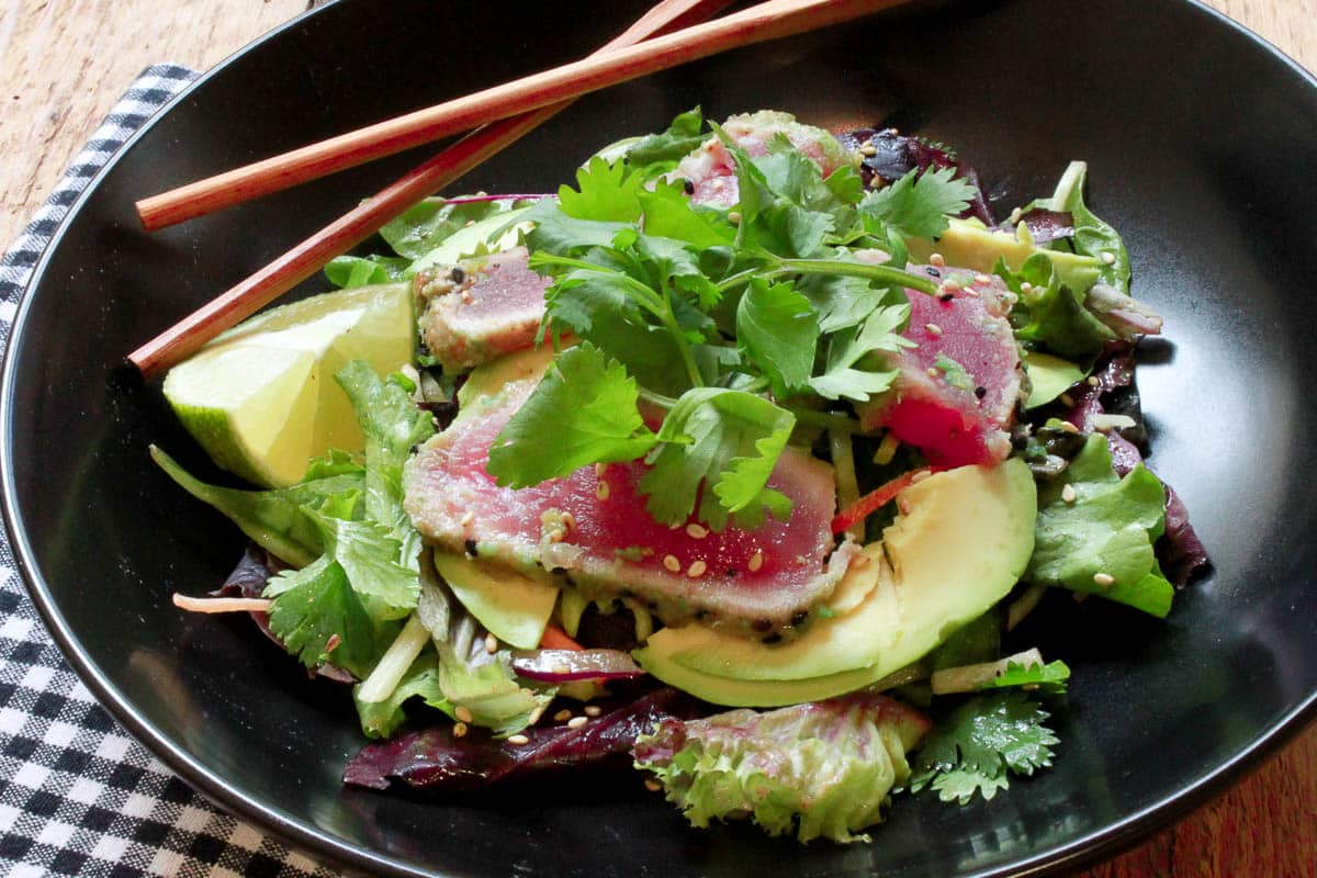
<path id="1" fill-rule="evenodd" d="M 865 196 L 853 167 L 824 176 L 785 134 L 749 155 L 710 128 L 735 163 L 732 209 L 664 176 L 710 137 L 693 111 L 525 215 L 531 266 L 552 279 L 540 341 L 558 354 L 494 442 L 500 484 L 645 457 L 660 521 L 752 527 L 790 512 L 768 479 L 797 421 L 892 386 L 905 290 L 936 288 L 903 270 L 903 240 L 943 230 L 969 186 L 928 171 Z"/>

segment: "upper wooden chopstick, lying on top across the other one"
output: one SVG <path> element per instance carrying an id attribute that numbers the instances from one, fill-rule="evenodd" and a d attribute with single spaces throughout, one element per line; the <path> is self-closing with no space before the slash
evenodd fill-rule
<path id="1" fill-rule="evenodd" d="M 202 216 L 498 118 L 741 46 L 848 21 L 901 0 L 768 0 L 735 14 L 597 53 L 466 97 L 303 146 L 138 201 L 148 229 Z"/>

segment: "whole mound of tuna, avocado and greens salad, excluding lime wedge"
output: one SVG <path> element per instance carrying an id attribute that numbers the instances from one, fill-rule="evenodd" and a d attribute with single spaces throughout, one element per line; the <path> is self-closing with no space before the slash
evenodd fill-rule
<path id="1" fill-rule="evenodd" d="M 998 224 L 942 145 L 697 109 L 328 267 L 420 317 L 398 371 L 335 371 L 360 448 L 255 491 L 153 454 L 258 546 L 229 606 L 353 686 L 349 783 L 622 758 L 695 825 L 863 839 L 1051 763 L 1035 606 L 1164 617 L 1205 563 L 1084 178 Z"/>

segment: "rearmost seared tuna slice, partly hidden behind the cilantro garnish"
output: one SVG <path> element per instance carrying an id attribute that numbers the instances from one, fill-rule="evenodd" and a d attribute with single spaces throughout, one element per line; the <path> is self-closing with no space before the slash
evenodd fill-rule
<path id="1" fill-rule="evenodd" d="M 790 113 L 764 109 L 732 116 L 723 124 L 723 130 L 749 155 L 768 155 L 769 141 L 784 134 L 802 155 L 823 168 L 823 176 L 847 163 L 847 154 L 832 134 L 822 128 L 802 125 Z M 716 137 L 681 159 L 668 179 L 689 180 L 690 200 L 697 204 L 727 209 L 740 200 L 736 159 Z"/>

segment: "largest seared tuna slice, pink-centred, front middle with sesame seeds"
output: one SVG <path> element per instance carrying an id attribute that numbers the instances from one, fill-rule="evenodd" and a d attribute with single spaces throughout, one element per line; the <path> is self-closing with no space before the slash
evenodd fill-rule
<path id="1" fill-rule="evenodd" d="M 788 450 L 768 482 L 793 500 L 790 519 L 755 530 L 658 524 L 639 492 L 640 462 L 520 490 L 495 484 L 490 445 L 537 379 L 464 400 L 457 421 L 407 463 L 407 512 L 427 541 L 589 598 L 632 598 L 669 624 L 711 616 L 768 633 L 832 591 L 855 546 L 828 558 L 832 471 L 803 453 Z"/>

